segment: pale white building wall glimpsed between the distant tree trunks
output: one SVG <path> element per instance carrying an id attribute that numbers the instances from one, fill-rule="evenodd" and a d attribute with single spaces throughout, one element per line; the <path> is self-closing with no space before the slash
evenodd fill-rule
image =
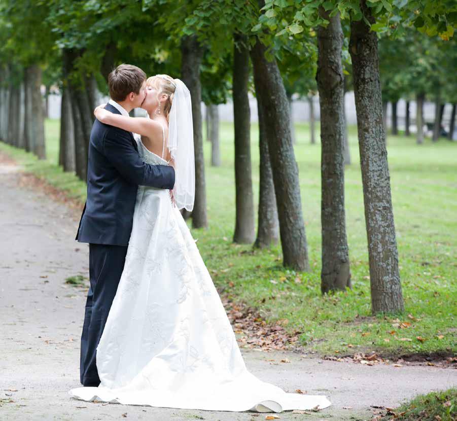
<path id="1" fill-rule="evenodd" d="M 51 94 L 49 95 L 49 118 L 60 118 L 60 95 L 59 94 Z M 103 101 L 108 102 L 108 97 L 102 97 L 100 99 L 100 103 Z M 357 124 L 357 116 L 356 116 L 356 105 L 354 102 L 354 92 L 347 92 L 345 95 L 345 110 L 346 110 L 346 119 L 348 124 Z M 250 107 L 251 107 L 251 121 L 257 122 L 257 100 L 254 96 L 250 95 Z M 316 120 L 320 118 L 320 108 L 319 108 L 319 96 L 316 95 L 313 98 L 314 104 L 314 114 Z M 204 113 L 205 106 L 202 103 L 202 112 Z M 233 103 L 229 100 L 226 104 L 220 104 L 219 108 L 219 118 L 220 121 L 233 121 Z M 415 120 L 416 120 L 416 103 L 415 101 L 410 102 L 410 122 L 411 132 L 415 132 Z M 137 112 L 139 115 L 140 112 Z M 400 130 L 405 129 L 405 115 L 406 115 L 406 101 L 404 99 L 400 99 L 397 105 L 397 114 L 398 114 L 398 128 Z M 450 114 L 451 114 L 451 107 L 447 105 L 444 108 L 444 116 L 443 116 L 443 125 L 446 129 L 449 127 L 450 121 Z M 391 125 L 391 117 L 392 117 L 392 108 L 391 104 L 389 103 L 387 108 L 387 119 L 388 119 L 388 126 Z M 294 122 L 308 122 L 309 121 L 309 103 L 307 100 L 295 100 L 292 106 L 292 118 Z M 432 123 L 435 120 L 435 104 L 433 102 L 424 102 L 424 122 L 425 123 Z M 454 139 L 457 138 L 457 133 L 454 133 Z"/>

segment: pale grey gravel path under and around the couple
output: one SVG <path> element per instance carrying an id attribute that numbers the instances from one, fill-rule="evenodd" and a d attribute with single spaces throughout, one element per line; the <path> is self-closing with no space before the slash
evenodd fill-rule
<path id="1" fill-rule="evenodd" d="M 74 241 L 75 210 L 24 186 L 21 169 L 0 159 L 0 419 L 261 420 L 266 414 L 102 405 L 69 397 L 79 387 L 79 346 L 88 247 Z M 27 180 L 27 179 L 25 179 Z M 371 419 L 370 405 L 395 407 L 418 393 L 457 384 L 452 368 L 363 366 L 290 352 L 242 349 L 249 370 L 287 391 L 325 394 L 332 406 L 279 419 Z M 281 362 L 287 359 L 290 363 Z"/>

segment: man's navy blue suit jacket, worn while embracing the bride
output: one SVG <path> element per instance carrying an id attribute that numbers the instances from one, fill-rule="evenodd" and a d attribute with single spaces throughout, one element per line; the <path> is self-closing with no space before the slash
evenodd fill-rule
<path id="1" fill-rule="evenodd" d="M 111 104 L 106 109 L 120 114 Z M 145 163 L 132 133 L 95 119 L 89 142 L 87 200 L 76 239 L 128 245 L 139 185 L 172 189 L 174 168 Z"/>

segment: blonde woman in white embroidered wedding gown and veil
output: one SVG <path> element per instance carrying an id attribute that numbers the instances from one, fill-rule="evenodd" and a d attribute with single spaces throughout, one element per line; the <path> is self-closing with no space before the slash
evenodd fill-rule
<path id="1" fill-rule="evenodd" d="M 147 81 L 150 118 L 112 114 L 103 123 L 141 135 L 150 164 L 174 161 L 172 191 L 138 188 L 125 266 L 97 347 L 98 387 L 69 391 L 85 401 L 217 411 L 281 412 L 331 405 L 286 393 L 246 368 L 221 299 L 180 210 L 195 190 L 190 93 L 179 79 Z M 171 196 L 171 197 L 170 197 Z"/>

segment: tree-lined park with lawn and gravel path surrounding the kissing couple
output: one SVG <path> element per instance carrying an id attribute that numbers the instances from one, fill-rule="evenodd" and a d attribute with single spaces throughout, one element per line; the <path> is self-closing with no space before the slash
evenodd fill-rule
<path id="1" fill-rule="evenodd" d="M 456 16 L 444 0 L 3 2 L 2 418 L 457 419 Z M 121 63 L 191 92 L 196 194 L 182 214 L 248 368 L 332 406 L 67 395 L 93 109 Z"/>

